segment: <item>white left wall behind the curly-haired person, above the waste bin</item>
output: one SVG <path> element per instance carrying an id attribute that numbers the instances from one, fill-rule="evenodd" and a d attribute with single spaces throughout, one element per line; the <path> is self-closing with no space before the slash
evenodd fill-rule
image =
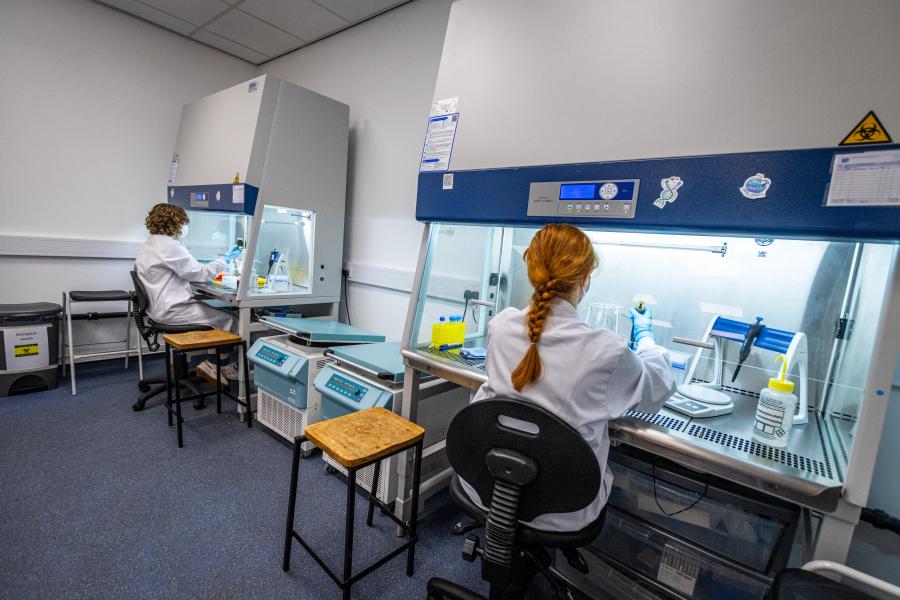
<path id="1" fill-rule="evenodd" d="M 182 105 L 256 71 L 88 0 L 3 0 L 0 56 L 0 238 L 143 241 Z M 0 303 L 131 289 L 131 262 L 0 254 Z"/>

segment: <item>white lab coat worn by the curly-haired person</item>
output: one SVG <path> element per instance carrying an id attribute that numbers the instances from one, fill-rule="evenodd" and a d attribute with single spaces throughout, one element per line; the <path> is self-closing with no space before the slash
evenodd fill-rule
<path id="1" fill-rule="evenodd" d="M 138 250 L 134 268 L 150 299 L 147 314 L 159 323 L 202 323 L 237 331 L 235 319 L 194 299 L 191 282 L 204 282 L 225 270 L 221 258 L 203 265 L 184 245 L 167 236 L 151 235 Z"/>

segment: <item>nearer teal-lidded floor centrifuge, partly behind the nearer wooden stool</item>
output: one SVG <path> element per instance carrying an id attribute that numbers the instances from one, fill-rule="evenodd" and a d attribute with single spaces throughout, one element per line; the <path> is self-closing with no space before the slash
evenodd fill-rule
<path id="1" fill-rule="evenodd" d="M 331 362 L 315 378 L 316 392 L 321 395 L 321 418 L 330 419 L 366 408 L 381 407 L 399 412 L 403 394 L 405 369 L 400 355 L 400 342 L 339 346 L 326 351 Z M 416 374 L 421 378 L 421 375 Z M 446 474 L 450 470 L 445 451 L 445 438 L 450 421 L 469 402 L 468 390 L 448 386 L 434 378 L 425 378 L 424 387 L 431 391 L 419 424 L 425 428 L 422 450 L 422 473 Z M 390 504 L 397 497 L 398 463 L 402 457 L 383 461 L 378 480 L 378 498 Z M 331 469 L 346 474 L 346 469 L 328 455 Z M 357 474 L 357 483 L 366 491 L 372 489 L 374 466 Z M 423 501 L 439 488 L 421 490 Z"/>

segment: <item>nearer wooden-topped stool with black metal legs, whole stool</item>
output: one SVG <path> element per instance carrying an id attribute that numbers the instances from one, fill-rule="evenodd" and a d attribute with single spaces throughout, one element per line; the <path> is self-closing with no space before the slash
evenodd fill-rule
<path id="1" fill-rule="evenodd" d="M 320 421 L 309 425 L 303 435 L 294 439 L 294 460 L 291 465 L 291 491 L 288 500 L 287 527 L 284 532 L 284 558 L 282 569 L 290 569 L 291 544 L 294 539 L 310 553 L 343 592 L 344 600 L 350 598 L 350 587 L 386 563 L 395 556 L 408 550 L 406 557 L 406 575 L 412 577 L 415 560 L 416 518 L 419 510 L 419 478 L 422 470 L 422 441 L 425 430 L 401 416 L 384 408 L 367 408 L 342 417 Z M 338 577 L 319 558 L 309 544 L 294 530 L 294 508 L 297 505 L 297 476 L 300 468 L 301 446 L 310 441 L 327 453 L 341 466 L 347 469 L 347 513 L 344 524 L 344 570 Z M 378 478 L 381 472 L 381 460 L 394 454 L 415 449 L 412 489 L 412 514 L 409 523 L 404 523 L 394 515 L 385 503 L 377 498 Z M 407 540 L 384 557 L 376 560 L 363 570 L 353 575 L 353 518 L 356 508 L 356 472 L 373 463 L 375 474 L 372 478 L 372 491 L 366 492 L 369 497 L 369 513 L 366 524 L 372 526 L 372 516 L 377 505 L 381 513 L 390 517 L 397 525 L 407 531 Z"/>

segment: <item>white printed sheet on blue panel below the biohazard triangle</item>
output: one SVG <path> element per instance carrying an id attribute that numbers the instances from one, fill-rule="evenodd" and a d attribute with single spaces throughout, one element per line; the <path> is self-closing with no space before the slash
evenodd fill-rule
<path id="1" fill-rule="evenodd" d="M 900 150 L 835 154 L 825 205 L 900 207 Z"/>

